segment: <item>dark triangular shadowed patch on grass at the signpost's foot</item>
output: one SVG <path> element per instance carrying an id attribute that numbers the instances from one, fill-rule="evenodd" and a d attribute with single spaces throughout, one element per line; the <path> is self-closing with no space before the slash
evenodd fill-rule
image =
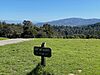
<path id="1" fill-rule="evenodd" d="M 27 75 L 54 75 L 54 74 L 46 71 L 44 66 L 38 63 L 38 65 Z"/>

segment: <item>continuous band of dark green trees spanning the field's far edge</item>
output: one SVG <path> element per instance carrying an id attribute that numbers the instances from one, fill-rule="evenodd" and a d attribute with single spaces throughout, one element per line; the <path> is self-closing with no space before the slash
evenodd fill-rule
<path id="1" fill-rule="evenodd" d="M 100 39 L 100 23 L 87 26 L 37 26 L 31 21 L 9 24 L 0 22 L 0 37 L 7 38 L 96 38 Z"/>

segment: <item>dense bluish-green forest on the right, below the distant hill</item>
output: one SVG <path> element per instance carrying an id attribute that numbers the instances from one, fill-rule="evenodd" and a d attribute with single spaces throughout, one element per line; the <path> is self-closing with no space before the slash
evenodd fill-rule
<path id="1" fill-rule="evenodd" d="M 59 33 L 57 37 L 63 38 L 100 38 L 100 23 L 88 25 L 88 26 L 53 26 L 56 33 Z"/>

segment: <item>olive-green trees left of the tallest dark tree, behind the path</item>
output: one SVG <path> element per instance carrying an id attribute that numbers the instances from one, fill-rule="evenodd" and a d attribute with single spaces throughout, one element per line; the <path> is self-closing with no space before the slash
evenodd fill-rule
<path id="1" fill-rule="evenodd" d="M 19 38 L 23 28 L 21 24 L 6 24 L 0 22 L 0 37 Z"/>

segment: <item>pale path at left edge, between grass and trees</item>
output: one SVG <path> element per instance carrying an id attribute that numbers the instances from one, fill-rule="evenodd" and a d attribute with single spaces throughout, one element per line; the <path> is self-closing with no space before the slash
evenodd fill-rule
<path id="1" fill-rule="evenodd" d="M 7 44 L 14 44 L 14 43 L 19 43 L 19 42 L 23 42 L 23 41 L 29 41 L 32 39 L 9 39 L 9 40 L 2 40 L 0 41 L 0 46 L 4 46 Z"/>

